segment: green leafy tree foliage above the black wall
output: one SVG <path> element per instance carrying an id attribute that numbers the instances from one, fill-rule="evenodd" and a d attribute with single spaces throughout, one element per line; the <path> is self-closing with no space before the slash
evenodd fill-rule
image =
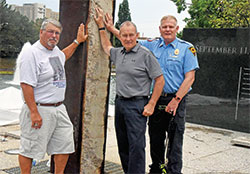
<path id="1" fill-rule="evenodd" d="M 171 1 L 179 13 L 187 8 L 185 0 Z M 250 0 L 192 0 L 188 12 L 188 28 L 250 27 Z"/>

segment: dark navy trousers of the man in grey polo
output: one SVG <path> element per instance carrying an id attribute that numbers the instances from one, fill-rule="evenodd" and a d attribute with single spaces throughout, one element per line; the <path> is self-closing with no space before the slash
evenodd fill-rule
<path id="1" fill-rule="evenodd" d="M 115 100 L 115 130 L 124 173 L 145 174 L 145 132 L 143 116 L 147 98 Z"/>

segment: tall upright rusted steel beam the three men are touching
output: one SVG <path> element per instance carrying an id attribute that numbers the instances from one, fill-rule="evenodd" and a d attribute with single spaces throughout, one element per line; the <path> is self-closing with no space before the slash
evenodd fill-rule
<path id="1" fill-rule="evenodd" d="M 63 32 L 59 47 L 72 43 L 80 23 L 88 21 L 89 35 L 65 65 L 65 105 L 74 125 L 76 147 L 65 173 L 103 173 L 110 68 L 93 15 L 95 6 L 114 14 L 114 5 L 115 0 L 60 0 Z M 51 161 L 53 172 L 53 157 Z"/>

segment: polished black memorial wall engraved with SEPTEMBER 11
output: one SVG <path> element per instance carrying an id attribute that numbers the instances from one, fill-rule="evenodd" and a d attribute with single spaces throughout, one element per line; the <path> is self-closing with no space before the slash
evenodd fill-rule
<path id="1" fill-rule="evenodd" d="M 250 29 L 184 29 L 183 39 L 200 65 L 187 121 L 250 132 Z"/>

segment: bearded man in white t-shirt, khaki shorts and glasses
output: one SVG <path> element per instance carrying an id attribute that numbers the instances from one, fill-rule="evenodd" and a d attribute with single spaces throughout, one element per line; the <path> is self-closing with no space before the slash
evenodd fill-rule
<path id="1" fill-rule="evenodd" d="M 75 151 L 73 125 L 63 104 L 66 90 L 65 61 L 87 39 L 80 24 L 77 38 L 62 51 L 56 46 L 62 26 L 46 19 L 40 40 L 20 59 L 20 85 L 25 104 L 20 114 L 19 165 L 22 174 L 31 172 L 32 159 L 54 155 L 55 173 L 63 173 L 69 154 Z"/>

